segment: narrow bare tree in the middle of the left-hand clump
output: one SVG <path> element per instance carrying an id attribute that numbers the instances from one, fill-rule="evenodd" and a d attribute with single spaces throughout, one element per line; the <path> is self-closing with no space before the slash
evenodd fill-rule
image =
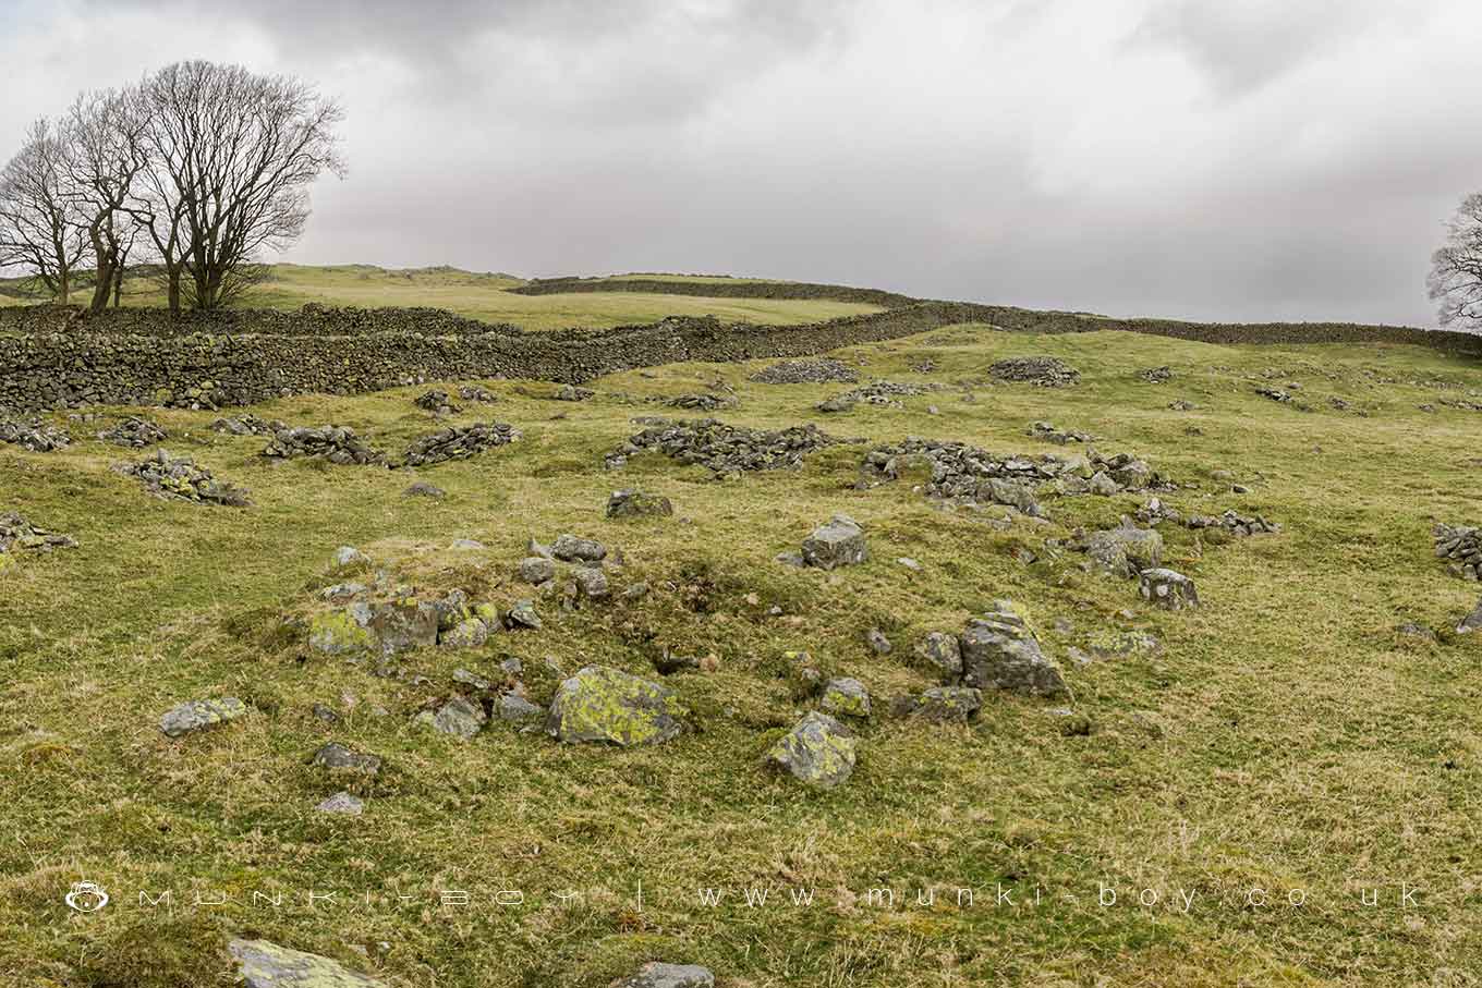
<path id="1" fill-rule="evenodd" d="M 135 218 L 133 185 L 148 167 L 145 117 L 138 90 L 104 90 L 77 98 L 67 114 L 70 194 L 87 230 L 98 276 L 92 311 L 108 307 L 123 276 Z"/>

